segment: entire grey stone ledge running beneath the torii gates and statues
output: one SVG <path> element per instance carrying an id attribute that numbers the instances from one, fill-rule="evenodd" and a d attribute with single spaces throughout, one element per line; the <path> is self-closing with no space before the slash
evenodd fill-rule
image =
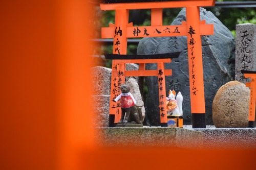
<path id="1" fill-rule="evenodd" d="M 100 147 L 256 149 L 256 128 L 92 128 Z"/>

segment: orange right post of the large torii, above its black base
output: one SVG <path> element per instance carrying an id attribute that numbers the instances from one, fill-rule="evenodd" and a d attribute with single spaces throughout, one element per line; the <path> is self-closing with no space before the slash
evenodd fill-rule
<path id="1" fill-rule="evenodd" d="M 205 113 L 199 7 L 186 7 L 186 16 L 191 113 Z"/>

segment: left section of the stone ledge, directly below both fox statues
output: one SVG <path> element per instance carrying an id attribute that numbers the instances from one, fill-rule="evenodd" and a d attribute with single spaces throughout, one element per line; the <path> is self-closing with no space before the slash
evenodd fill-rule
<path id="1" fill-rule="evenodd" d="M 95 143 L 101 147 L 200 148 L 203 134 L 182 128 L 94 128 Z"/>

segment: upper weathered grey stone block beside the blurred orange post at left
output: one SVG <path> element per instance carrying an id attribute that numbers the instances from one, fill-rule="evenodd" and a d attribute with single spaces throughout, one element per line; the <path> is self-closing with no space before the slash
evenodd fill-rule
<path id="1" fill-rule="evenodd" d="M 112 69 L 106 67 L 92 67 L 92 94 L 94 95 L 110 95 Z"/>

